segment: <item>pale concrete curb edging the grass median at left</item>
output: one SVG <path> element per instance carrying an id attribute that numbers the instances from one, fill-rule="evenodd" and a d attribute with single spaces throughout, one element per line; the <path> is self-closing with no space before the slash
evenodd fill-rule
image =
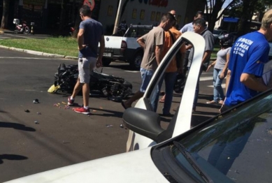
<path id="1" fill-rule="evenodd" d="M 76 60 L 78 59 L 78 57 L 71 57 L 71 56 L 66 56 L 66 55 L 62 55 L 62 54 L 50 54 L 50 53 L 38 52 L 38 51 L 34 51 L 34 50 L 24 50 L 24 49 L 20 49 L 20 48 L 16 48 L 16 47 L 7 47 L 7 46 L 3 46 L 3 45 L 0 45 L 0 47 L 8 49 L 8 50 L 13 50 L 13 51 L 17 51 L 17 52 L 25 52 L 28 54 L 35 54 L 35 55 L 45 56 L 45 57 L 54 57 L 54 58 L 61 58 L 61 59 L 76 59 Z"/>

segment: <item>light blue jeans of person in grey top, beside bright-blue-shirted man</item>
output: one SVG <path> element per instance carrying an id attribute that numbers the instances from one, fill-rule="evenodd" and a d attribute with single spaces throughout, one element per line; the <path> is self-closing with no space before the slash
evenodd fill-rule
<path id="1" fill-rule="evenodd" d="M 213 69 L 213 101 L 219 102 L 224 101 L 224 91 L 222 89 L 222 82 L 224 80 L 220 79 L 219 76 L 222 73 L 222 69 Z"/>

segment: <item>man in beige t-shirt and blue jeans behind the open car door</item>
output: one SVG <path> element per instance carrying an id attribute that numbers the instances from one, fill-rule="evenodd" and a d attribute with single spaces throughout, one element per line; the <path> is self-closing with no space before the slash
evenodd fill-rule
<path id="1" fill-rule="evenodd" d="M 171 13 L 166 13 L 162 16 L 161 23 L 158 27 L 155 27 L 148 34 L 145 34 L 141 38 L 138 38 L 137 42 L 141 47 L 144 47 L 143 61 L 141 63 L 141 77 L 142 85 L 141 88 L 134 96 L 131 96 L 127 101 L 122 102 L 123 108 L 131 108 L 131 104 L 138 100 L 145 93 L 145 89 L 152 78 L 153 73 L 159 63 L 162 61 L 162 50 L 164 45 L 164 31 L 168 31 L 173 22 L 176 22 L 175 17 Z M 159 87 L 157 87 L 159 90 Z M 157 92 L 156 92 L 157 93 Z M 152 109 L 157 110 L 156 96 L 150 98 Z"/>

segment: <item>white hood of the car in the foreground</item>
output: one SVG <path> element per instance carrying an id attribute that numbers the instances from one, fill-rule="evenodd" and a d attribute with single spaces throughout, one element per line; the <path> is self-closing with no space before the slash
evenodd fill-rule
<path id="1" fill-rule="evenodd" d="M 168 182 L 150 156 L 151 147 L 29 175 L 8 183 Z"/>

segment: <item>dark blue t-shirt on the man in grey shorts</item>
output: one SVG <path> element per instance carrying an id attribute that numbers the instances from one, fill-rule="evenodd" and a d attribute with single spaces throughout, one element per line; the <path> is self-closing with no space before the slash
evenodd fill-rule
<path id="1" fill-rule="evenodd" d="M 90 18 L 80 22 L 79 29 L 84 29 L 83 45 L 87 46 L 79 51 L 78 57 L 97 57 L 98 44 L 103 35 L 102 24 Z"/>

